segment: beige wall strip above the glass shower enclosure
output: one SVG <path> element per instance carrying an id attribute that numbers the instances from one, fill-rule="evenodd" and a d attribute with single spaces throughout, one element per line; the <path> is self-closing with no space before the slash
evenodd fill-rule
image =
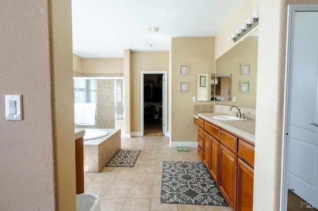
<path id="1" fill-rule="evenodd" d="M 124 73 L 124 58 L 82 58 L 82 73 Z"/>

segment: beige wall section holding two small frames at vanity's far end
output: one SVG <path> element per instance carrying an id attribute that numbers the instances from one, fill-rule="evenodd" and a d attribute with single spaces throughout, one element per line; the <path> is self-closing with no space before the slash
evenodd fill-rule
<path id="1" fill-rule="evenodd" d="M 197 74 L 214 73 L 214 37 L 174 37 L 171 41 L 171 141 L 196 142 L 193 105 L 197 96 Z M 189 75 L 179 75 L 179 64 L 189 64 Z M 189 92 L 179 92 L 179 81 L 189 81 Z"/>

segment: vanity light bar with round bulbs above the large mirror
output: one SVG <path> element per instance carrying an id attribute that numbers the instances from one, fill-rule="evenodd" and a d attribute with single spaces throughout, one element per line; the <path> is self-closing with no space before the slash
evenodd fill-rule
<path id="1" fill-rule="evenodd" d="M 255 11 L 253 14 L 253 17 L 248 18 L 246 20 L 246 23 L 243 23 L 240 25 L 240 28 L 236 30 L 235 33 L 231 35 L 231 37 L 228 38 L 228 41 L 237 42 L 241 37 L 243 37 L 247 32 L 249 32 L 251 29 L 253 29 L 255 26 L 258 25 L 259 21 L 259 12 Z"/>

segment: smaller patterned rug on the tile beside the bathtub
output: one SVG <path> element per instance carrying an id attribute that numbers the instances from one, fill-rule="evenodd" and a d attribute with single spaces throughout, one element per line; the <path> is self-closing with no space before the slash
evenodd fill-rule
<path id="1" fill-rule="evenodd" d="M 119 150 L 107 167 L 134 167 L 141 150 Z"/>

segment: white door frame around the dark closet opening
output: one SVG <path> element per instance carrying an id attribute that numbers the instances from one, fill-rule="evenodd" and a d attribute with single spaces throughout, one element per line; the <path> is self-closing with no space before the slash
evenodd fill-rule
<path id="1" fill-rule="evenodd" d="M 167 134 L 167 71 L 141 71 L 140 73 L 140 105 L 141 105 L 141 136 L 144 136 L 144 74 L 163 74 L 162 80 L 164 80 L 164 105 L 163 109 L 163 118 L 164 118 L 164 136 Z"/>

